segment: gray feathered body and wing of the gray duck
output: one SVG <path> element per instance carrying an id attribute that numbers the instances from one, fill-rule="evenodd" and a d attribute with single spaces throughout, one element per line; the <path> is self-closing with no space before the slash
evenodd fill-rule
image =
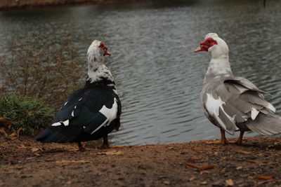
<path id="1" fill-rule="evenodd" d="M 275 134 L 276 130 L 267 130 L 263 133 L 261 130 L 256 130 L 259 126 L 268 128 L 264 123 L 257 123 L 259 122 L 256 120 L 257 116 L 270 116 L 276 111 L 274 106 L 263 98 L 263 94 L 266 92 L 256 88 L 246 78 L 221 78 L 206 86 L 202 95 L 202 104 L 211 122 L 230 134 L 239 130 L 241 124 L 254 132 L 259 131 L 260 134 Z M 253 121 L 255 123 L 251 123 Z"/>

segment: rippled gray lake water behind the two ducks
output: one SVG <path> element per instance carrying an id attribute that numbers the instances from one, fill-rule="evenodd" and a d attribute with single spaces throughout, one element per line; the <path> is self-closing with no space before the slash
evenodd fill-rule
<path id="1" fill-rule="evenodd" d="M 2 12 L 0 47 L 11 35 L 39 34 L 48 45 L 71 37 L 86 64 L 89 44 L 100 39 L 113 54 L 106 65 L 123 104 L 112 144 L 215 139 L 219 130 L 204 117 L 199 100 L 210 57 L 193 50 L 205 34 L 218 33 L 230 48 L 233 74 L 270 92 L 268 100 L 280 111 L 280 10 L 274 0 L 266 8 L 254 0 L 187 0 Z"/>

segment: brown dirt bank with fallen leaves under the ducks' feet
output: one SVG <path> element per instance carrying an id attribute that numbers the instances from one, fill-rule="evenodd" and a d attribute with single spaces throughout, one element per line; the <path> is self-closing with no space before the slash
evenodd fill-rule
<path id="1" fill-rule="evenodd" d="M 281 186 L 280 155 L 277 138 L 79 152 L 77 144 L 0 137 L 0 186 Z"/>

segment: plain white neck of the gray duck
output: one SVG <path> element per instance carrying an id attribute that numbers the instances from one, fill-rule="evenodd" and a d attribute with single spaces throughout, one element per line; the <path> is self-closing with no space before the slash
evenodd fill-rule
<path id="1" fill-rule="evenodd" d="M 228 59 L 228 55 L 219 55 L 215 57 L 212 55 L 204 82 L 209 81 L 212 78 L 233 76 Z"/>

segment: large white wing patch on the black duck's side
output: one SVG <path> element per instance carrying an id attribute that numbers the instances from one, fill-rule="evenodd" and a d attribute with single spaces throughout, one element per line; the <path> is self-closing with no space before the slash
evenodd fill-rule
<path id="1" fill-rule="evenodd" d="M 100 113 L 103 113 L 103 115 L 107 118 L 103 124 L 101 124 L 96 130 L 91 132 L 93 134 L 97 130 L 99 130 L 101 127 L 109 125 L 112 120 L 115 120 L 117 118 L 117 111 L 118 111 L 118 106 L 117 106 L 117 99 L 115 98 L 115 102 L 112 104 L 112 108 L 108 109 L 105 105 L 103 108 L 100 109 Z"/>

